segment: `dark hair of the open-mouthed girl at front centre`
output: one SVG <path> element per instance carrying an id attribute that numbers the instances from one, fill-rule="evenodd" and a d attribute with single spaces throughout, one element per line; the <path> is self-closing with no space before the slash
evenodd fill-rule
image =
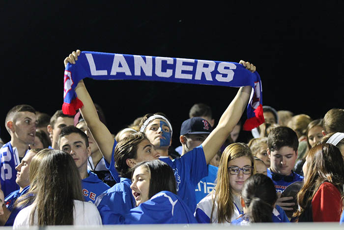
<path id="1" fill-rule="evenodd" d="M 149 199 L 161 191 L 169 191 L 177 194 L 174 173 L 168 164 L 160 160 L 141 162 L 132 169 L 132 175 L 135 169 L 140 166 L 145 167 L 150 173 L 148 193 Z"/>

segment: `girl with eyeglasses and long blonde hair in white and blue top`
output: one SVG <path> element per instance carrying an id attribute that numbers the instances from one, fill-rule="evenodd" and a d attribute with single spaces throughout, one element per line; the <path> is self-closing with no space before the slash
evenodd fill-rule
<path id="1" fill-rule="evenodd" d="M 198 204 L 195 217 L 199 223 L 230 224 L 243 214 L 240 193 L 244 182 L 254 174 L 254 158 L 244 143 L 234 143 L 224 150 L 217 184 Z"/>

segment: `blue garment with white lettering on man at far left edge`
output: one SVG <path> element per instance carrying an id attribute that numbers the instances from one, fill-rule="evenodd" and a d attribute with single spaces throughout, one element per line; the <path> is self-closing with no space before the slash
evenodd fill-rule
<path id="1" fill-rule="evenodd" d="M 0 149 L 0 183 L 4 197 L 19 189 L 16 183 L 16 166 L 20 164 L 18 151 L 13 149 L 10 142 L 2 145 Z"/>

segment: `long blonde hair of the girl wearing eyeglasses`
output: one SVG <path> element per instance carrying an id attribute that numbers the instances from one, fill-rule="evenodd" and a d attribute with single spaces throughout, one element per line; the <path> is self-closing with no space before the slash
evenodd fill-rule
<path id="1" fill-rule="evenodd" d="M 228 165 L 231 160 L 239 157 L 248 157 L 251 160 L 252 166 L 254 166 L 254 159 L 251 149 L 244 143 L 233 143 L 226 147 L 222 153 L 219 170 L 217 172 L 217 184 L 213 190 L 213 207 L 211 210 L 212 219 L 215 209 L 215 201 L 217 202 L 217 222 L 224 223 L 229 222 L 234 212 L 233 206 L 233 192 L 230 189 L 229 184 L 229 172 Z M 251 175 L 255 173 L 252 171 Z"/>

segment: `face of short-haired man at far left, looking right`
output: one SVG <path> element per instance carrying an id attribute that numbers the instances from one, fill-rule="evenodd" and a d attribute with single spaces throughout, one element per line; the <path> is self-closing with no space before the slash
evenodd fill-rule
<path id="1" fill-rule="evenodd" d="M 11 131 L 13 138 L 25 144 L 33 144 L 36 134 L 36 115 L 25 111 L 18 112 L 13 119 Z"/>

